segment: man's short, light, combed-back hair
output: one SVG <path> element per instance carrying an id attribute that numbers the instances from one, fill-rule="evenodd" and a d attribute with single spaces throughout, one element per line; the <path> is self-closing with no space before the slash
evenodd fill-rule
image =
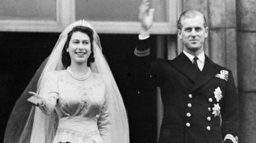
<path id="1" fill-rule="evenodd" d="M 185 10 L 180 14 L 180 18 L 178 20 L 178 29 L 181 30 L 181 28 L 182 28 L 181 20 L 183 20 L 185 18 L 193 18 L 196 16 L 202 16 L 203 20 L 204 20 L 204 27 L 207 27 L 206 18 L 203 13 L 201 13 L 198 10 Z"/>

